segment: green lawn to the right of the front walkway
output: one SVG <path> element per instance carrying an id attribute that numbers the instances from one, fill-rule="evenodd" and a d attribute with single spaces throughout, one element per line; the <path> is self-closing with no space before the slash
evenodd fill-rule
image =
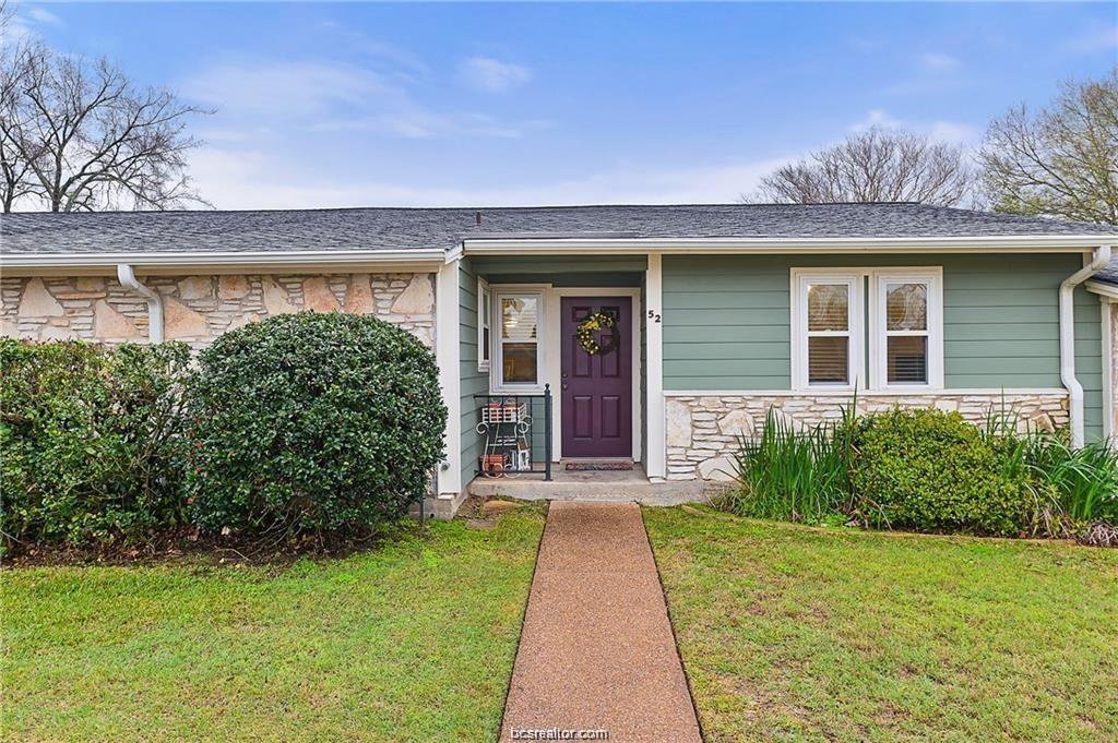
<path id="1" fill-rule="evenodd" d="M 1118 550 L 644 516 L 708 741 L 1118 740 Z"/>

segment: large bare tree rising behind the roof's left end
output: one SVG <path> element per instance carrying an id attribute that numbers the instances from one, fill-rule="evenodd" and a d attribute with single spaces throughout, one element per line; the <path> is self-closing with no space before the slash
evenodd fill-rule
<path id="1" fill-rule="evenodd" d="M 186 173 L 186 155 L 200 144 L 186 127 L 209 112 L 133 85 L 106 59 L 60 55 L 41 42 L 2 61 L 4 211 L 23 194 L 51 211 L 206 203 Z"/>

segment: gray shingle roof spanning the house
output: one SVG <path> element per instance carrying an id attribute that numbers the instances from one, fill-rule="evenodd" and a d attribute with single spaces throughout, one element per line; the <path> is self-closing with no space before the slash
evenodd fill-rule
<path id="1" fill-rule="evenodd" d="M 408 250 L 451 248 L 471 236 L 501 235 L 906 238 L 1114 231 L 913 203 L 13 213 L 0 217 L 0 253 Z"/>

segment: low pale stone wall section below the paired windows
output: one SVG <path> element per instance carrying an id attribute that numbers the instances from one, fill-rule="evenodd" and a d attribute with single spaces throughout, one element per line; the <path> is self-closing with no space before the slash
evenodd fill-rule
<path id="1" fill-rule="evenodd" d="M 667 479 L 730 479 L 733 471 L 730 456 L 737 437 L 760 434 L 765 416 L 773 407 L 797 428 L 807 428 L 842 417 L 841 408 L 850 399 L 836 396 L 670 396 L 666 400 L 667 417 Z M 999 392 L 974 394 L 966 392 L 937 392 L 925 396 L 859 394 L 859 412 L 903 408 L 957 410 L 967 420 L 980 422 L 991 408 L 1002 409 L 1003 403 L 1017 417 L 1022 428 L 1039 426 L 1049 430 L 1069 423 L 1065 392 L 1002 394 Z"/>

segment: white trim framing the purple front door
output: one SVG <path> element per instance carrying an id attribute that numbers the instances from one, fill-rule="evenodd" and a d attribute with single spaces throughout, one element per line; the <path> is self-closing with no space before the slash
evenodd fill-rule
<path id="1" fill-rule="evenodd" d="M 551 385 L 551 459 L 562 458 L 562 297 L 631 297 L 633 301 L 633 459 L 643 453 L 641 436 L 641 289 L 639 287 L 552 287 L 544 294 L 548 332 L 543 337 L 544 378 Z"/>

